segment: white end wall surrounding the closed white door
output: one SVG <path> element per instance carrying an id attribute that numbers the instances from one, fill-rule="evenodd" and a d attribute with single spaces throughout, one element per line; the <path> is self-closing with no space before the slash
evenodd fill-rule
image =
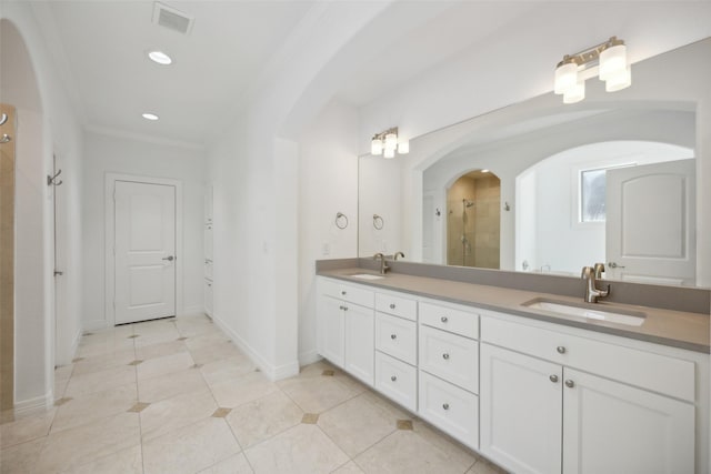
<path id="1" fill-rule="evenodd" d="M 204 151 L 87 132 L 83 172 L 83 325 L 111 324 L 104 314 L 104 177 L 107 173 L 166 178 L 182 182 L 183 293 L 180 314 L 202 311 Z"/>

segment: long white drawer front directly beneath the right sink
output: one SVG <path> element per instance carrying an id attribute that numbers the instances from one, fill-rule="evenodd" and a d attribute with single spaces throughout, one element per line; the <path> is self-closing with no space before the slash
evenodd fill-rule
<path id="1" fill-rule="evenodd" d="M 481 340 L 669 396 L 694 401 L 694 363 L 563 332 L 482 316 Z"/>

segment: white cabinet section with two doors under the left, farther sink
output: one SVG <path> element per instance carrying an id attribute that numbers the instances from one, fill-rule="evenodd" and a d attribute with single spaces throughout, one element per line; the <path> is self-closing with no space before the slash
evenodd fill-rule
<path id="1" fill-rule="evenodd" d="M 329 279 L 318 281 L 318 351 L 363 383 L 374 383 L 374 293 Z"/>

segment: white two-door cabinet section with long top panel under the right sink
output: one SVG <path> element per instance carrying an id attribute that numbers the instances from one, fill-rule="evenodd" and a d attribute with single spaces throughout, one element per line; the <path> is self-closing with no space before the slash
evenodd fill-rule
<path id="1" fill-rule="evenodd" d="M 481 321 L 481 452 L 517 473 L 693 473 L 694 363 Z M 649 345 L 652 349 L 652 345 Z"/>

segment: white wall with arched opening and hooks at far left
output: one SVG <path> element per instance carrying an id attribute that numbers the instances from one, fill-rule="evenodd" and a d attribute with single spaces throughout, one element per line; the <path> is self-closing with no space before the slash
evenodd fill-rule
<path id="1" fill-rule="evenodd" d="M 4 2 L 0 17 L 3 19 L 0 23 L 0 94 L 3 102 L 19 109 L 14 402 L 16 410 L 22 411 L 52 404 L 54 364 L 71 361 L 81 333 L 82 256 L 78 249 L 81 248 L 82 131 L 32 7 L 27 2 Z M 14 28 L 21 40 L 7 36 Z M 62 292 L 58 300 L 63 307 L 57 322 L 52 193 L 46 184 L 54 151 L 62 154 L 64 175 L 70 177 L 62 189 L 66 199 L 60 212 L 71 215 L 59 223 L 68 240 L 60 243 L 59 249 L 64 258 L 66 279 L 58 286 Z"/>

